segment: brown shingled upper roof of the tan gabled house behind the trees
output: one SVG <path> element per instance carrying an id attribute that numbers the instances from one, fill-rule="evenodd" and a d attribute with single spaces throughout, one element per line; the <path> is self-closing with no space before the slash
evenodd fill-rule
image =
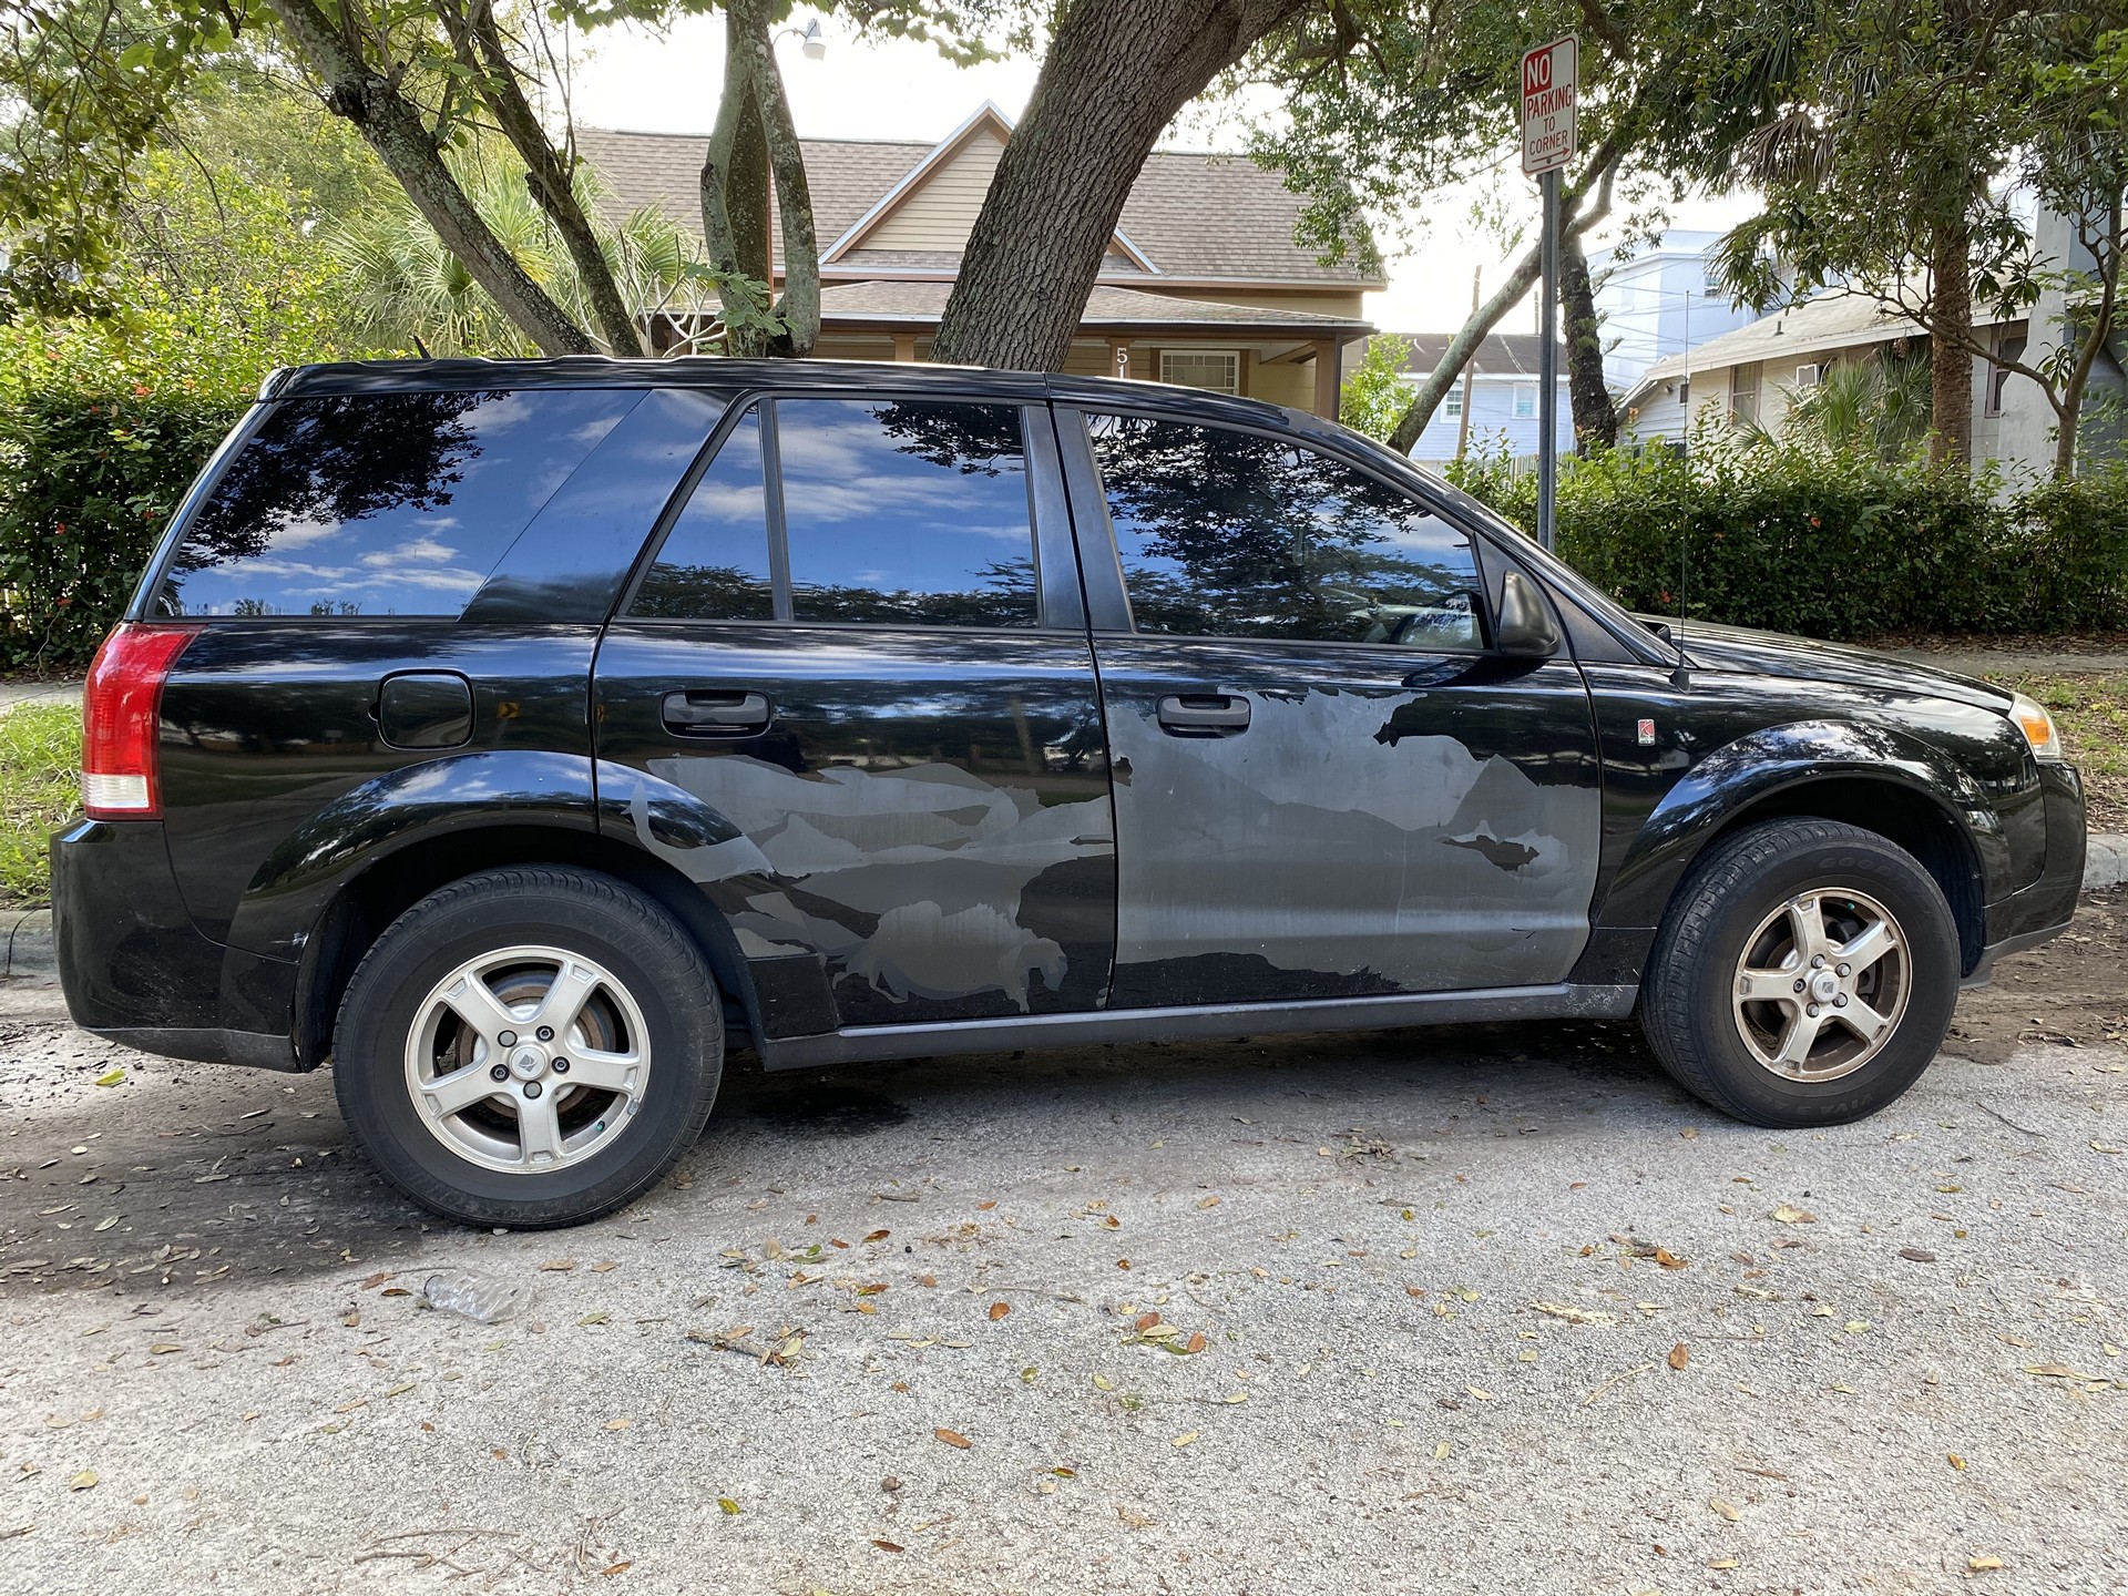
<path id="1" fill-rule="evenodd" d="M 845 247 L 824 277 L 949 277 L 960 264 L 951 251 L 866 249 L 864 238 L 904 181 L 909 189 L 921 187 L 932 170 L 983 130 L 1002 138 L 1011 123 L 994 106 L 983 106 L 936 145 L 800 138 L 821 251 L 828 255 L 834 245 Z M 706 147 L 706 134 L 577 130 L 577 149 L 604 183 L 600 206 L 613 219 L 658 206 L 672 221 L 698 226 Z M 1124 202 L 1117 243 L 1102 262 L 1102 277 L 1162 277 L 1179 285 L 1238 281 L 1381 287 L 1379 272 L 1362 272 L 1349 260 L 1324 266 L 1294 243 L 1304 204 L 1304 196 L 1292 194 L 1275 172 L 1243 155 L 1153 151 Z M 779 221 L 775 247 L 781 257 Z"/>

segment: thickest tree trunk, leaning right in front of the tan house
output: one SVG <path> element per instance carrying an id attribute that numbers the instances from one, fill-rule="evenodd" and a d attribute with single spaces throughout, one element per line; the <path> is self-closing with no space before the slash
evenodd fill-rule
<path id="1" fill-rule="evenodd" d="M 1075 0 L 998 162 L 934 360 L 1058 370 L 1153 140 L 1304 0 Z"/>

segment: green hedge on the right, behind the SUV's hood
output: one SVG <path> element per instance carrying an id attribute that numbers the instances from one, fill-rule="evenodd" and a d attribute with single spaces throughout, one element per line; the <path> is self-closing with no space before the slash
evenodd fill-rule
<path id="1" fill-rule="evenodd" d="M 1536 481 L 1449 472 L 1524 530 Z M 1822 638 L 2128 628 L 2128 466 L 2007 492 L 1990 470 L 1802 447 L 1566 460 L 1558 549 L 1628 609 Z"/>

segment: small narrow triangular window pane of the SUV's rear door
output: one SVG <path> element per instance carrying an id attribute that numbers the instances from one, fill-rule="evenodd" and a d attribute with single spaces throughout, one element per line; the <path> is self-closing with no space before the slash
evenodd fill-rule
<path id="1" fill-rule="evenodd" d="M 643 577 L 632 613 L 689 621 L 766 621 L 775 615 L 760 411 L 747 411 L 717 445 L 717 458 Z"/>

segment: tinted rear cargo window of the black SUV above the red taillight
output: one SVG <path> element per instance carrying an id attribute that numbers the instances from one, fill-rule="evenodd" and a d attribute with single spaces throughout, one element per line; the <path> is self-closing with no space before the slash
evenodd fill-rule
<path id="1" fill-rule="evenodd" d="M 630 389 L 279 400 L 185 528 L 164 615 L 458 615 L 641 400 Z"/>

